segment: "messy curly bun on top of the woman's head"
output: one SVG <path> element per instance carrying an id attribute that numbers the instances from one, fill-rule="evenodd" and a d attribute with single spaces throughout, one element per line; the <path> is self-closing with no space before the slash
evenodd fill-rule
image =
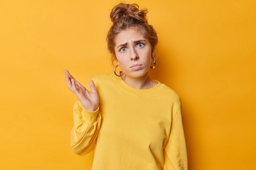
<path id="1" fill-rule="evenodd" d="M 148 11 L 146 9 L 139 10 L 137 4 L 120 3 L 112 9 L 110 18 L 113 24 L 121 24 L 130 20 L 148 23 L 146 18 L 147 13 Z"/>

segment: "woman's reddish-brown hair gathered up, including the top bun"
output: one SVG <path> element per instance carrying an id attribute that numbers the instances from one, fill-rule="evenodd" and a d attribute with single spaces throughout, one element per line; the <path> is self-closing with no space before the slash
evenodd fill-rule
<path id="1" fill-rule="evenodd" d="M 115 61 L 115 39 L 117 35 L 127 28 L 136 28 L 141 34 L 148 39 L 152 52 L 155 51 L 158 38 L 157 33 L 152 25 L 148 24 L 146 9 L 139 10 L 137 4 L 117 4 L 110 13 L 113 22 L 107 34 L 108 51 L 112 54 L 112 63 Z"/>

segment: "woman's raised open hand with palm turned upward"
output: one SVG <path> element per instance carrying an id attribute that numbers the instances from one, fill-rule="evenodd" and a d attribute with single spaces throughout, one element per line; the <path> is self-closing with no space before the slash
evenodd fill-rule
<path id="1" fill-rule="evenodd" d="M 80 100 L 81 104 L 87 111 L 95 111 L 99 106 L 99 95 L 96 91 L 94 82 L 90 80 L 90 87 L 92 92 L 89 92 L 83 85 L 81 85 L 76 79 L 67 71 L 66 74 L 67 86 Z"/>

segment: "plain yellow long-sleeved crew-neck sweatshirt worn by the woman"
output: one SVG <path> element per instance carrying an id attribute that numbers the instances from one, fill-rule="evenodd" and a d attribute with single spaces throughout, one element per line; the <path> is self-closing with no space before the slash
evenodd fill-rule
<path id="1" fill-rule="evenodd" d="M 75 102 L 74 153 L 94 150 L 92 170 L 187 170 L 181 99 L 173 89 L 156 80 L 134 89 L 113 72 L 92 80 L 100 103 L 87 111 Z"/>

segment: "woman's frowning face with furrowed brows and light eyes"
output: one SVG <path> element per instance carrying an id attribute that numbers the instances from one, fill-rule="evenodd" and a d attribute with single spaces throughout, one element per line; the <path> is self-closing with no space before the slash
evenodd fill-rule
<path id="1" fill-rule="evenodd" d="M 126 76 L 144 76 L 151 63 L 150 42 L 135 28 L 121 31 L 115 40 L 117 64 Z"/>

